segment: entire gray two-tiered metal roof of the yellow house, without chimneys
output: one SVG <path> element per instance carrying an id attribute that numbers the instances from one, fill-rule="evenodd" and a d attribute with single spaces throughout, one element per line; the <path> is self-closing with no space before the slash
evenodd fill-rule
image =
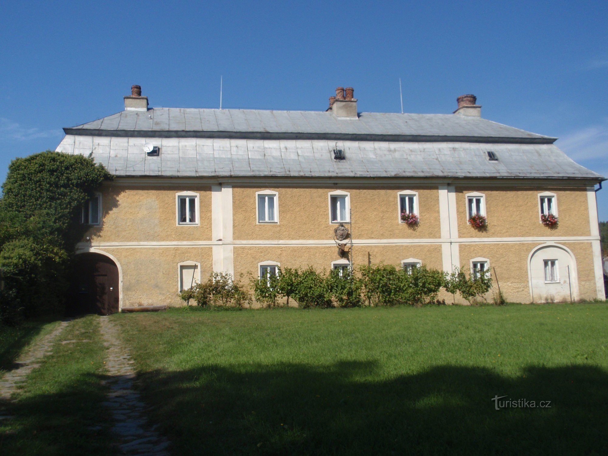
<path id="1" fill-rule="evenodd" d="M 116 176 L 604 179 L 556 138 L 454 114 L 154 108 L 64 131 L 58 151 L 90 154 Z"/>

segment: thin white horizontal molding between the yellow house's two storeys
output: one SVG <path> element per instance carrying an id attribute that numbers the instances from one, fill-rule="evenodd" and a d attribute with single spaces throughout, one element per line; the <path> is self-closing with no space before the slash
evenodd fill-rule
<path id="1" fill-rule="evenodd" d="M 390 246 L 409 244 L 504 244 L 504 243 L 556 243 L 599 241 L 599 236 L 522 237 L 522 238 L 458 238 L 458 239 L 361 239 L 353 240 L 356 246 Z M 78 250 L 91 247 L 212 247 L 212 246 L 335 246 L 333 240 L 254 240 L 254 241 L 141 241 L 78 243 Z"/>

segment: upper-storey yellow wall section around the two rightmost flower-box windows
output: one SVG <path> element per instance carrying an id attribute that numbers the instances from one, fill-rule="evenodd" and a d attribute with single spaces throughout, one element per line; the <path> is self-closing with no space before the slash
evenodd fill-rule
<path id="1" fill-rule="evenodd" d="M 480 192 L 486 198 L 486 230 L 467 223 L 466 194 Z M 559 224 L 549 229 L 540 222 L 538 194 L 553 192 L 558 199 Z M 456 187 L 458 237 L 555 237 L 589 236 L 589 209 L 586 188 L 491 188 Z"/>

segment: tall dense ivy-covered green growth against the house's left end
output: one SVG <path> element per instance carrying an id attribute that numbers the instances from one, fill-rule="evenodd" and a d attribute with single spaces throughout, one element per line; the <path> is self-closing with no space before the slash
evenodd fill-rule
<path id="1" fill-rule="evenodd" d="M 0 200 L 0 317 L 58 312 L 75 243 L 86 226 L 81 206 L 111 175 L 91 158 L 46 151 L 9 165 Z"/>

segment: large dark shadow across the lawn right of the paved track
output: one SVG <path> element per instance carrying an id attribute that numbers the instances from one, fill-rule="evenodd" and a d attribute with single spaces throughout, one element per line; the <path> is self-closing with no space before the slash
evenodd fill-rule
<path id="1" fill-rule="evenodd" d="M 528 367 L 506 378 L 444 365 L 384 381 L 375 371 L 373 362 L 210 365 L 151 371 L 142 385 L 179 455 L 608 453 L 600 368 Z M 495 410 L 495 396 L 536 408 Z"/>

